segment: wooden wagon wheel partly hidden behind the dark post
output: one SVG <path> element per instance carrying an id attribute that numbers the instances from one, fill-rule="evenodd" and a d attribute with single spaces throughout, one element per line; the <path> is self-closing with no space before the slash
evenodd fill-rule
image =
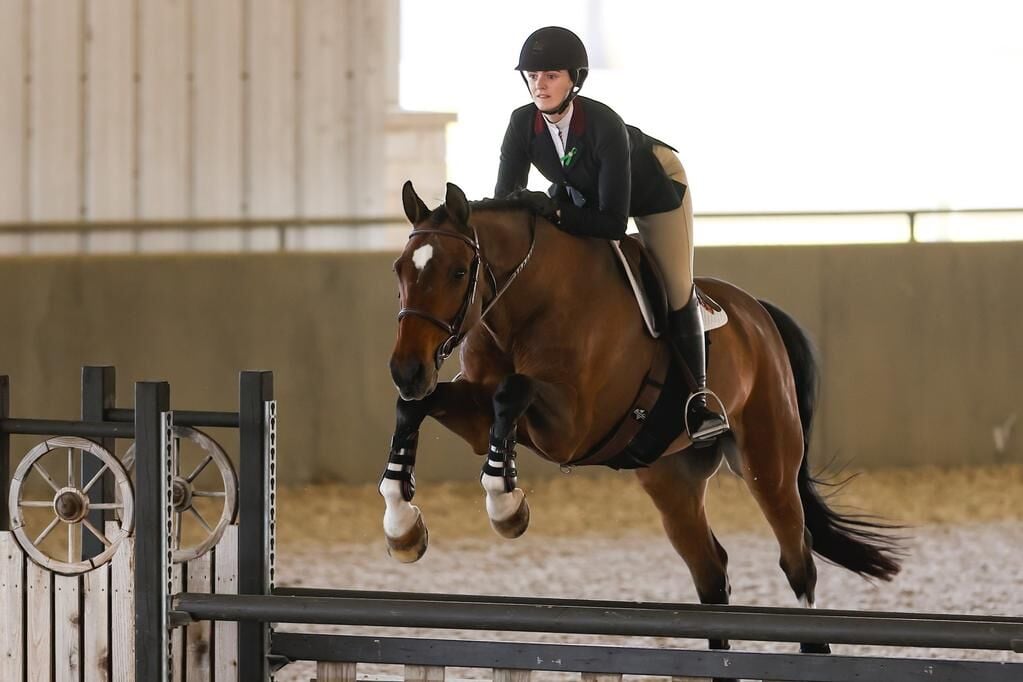
<path id="1" fill-rule="evenodd" d="M 234 514 L 237 511 L 238 484 L 230 458 L 228 458 L 223 448 L 212 438 L 190 426 L 174 426 L 174 437 L 178 440 L 186 439 L 194 443 L 205 453 L 203 461 L 188 475 L 182 476 L 180 471 L 175 471 L 171 479 L 175 534 L 174 546 L 171 549 L 173 550 L 174 562 L 181 563 L 203 556 L 203 554 L 210 551 L 214 545 L 220 542 L 220 538 L 234 519 Z M 125 453 L 123 463 L 125 469 L 128 471 L 131 471 L 135 467 L 134 444 Z M 220 490 L 201 490 L 195 485 L 195 479 L 211 463 L 217 465 L 223 486 Z M 215 526 L 210 526 L 206 517 L 195 508 L 193 502 L 196 498 L 214 498 L 224 501 L 220 518 Z M 185 514 L 194 518 L 206 532 L 201 542 L 188 547 L 181 546 L 181 527 Z"/>

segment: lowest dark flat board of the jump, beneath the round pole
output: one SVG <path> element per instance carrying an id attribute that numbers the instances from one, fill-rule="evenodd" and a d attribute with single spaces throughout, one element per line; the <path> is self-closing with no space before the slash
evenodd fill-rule
<path id="1" fill-rule="evenodd" d="M 358 637 L 280 630 L 273 633 L 271 651 L 291 661 L 698 678 L 817 682 L 1019 682 L 1023 679 L 1023 664 L 980 661 Z"/>

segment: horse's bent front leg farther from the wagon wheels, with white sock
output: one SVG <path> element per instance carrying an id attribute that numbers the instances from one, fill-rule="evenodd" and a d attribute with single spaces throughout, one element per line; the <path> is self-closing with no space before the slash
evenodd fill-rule
<path id="1" fill-rule="evenodd" d="M 516 467 L 516 426 L 530 406 L 539 405 L 548 426 L 571 423 L 574 402 L 557 387 L 525 374 L 509 374 L 494 392 L 494 422 L 490 449 L 480 482 L 487 493 L 490 525 L 505 538 L 518 538 L 529 527 L 529 504 L 519 488 Z M 562 434 L 571 433 L 562 428 Z"/>

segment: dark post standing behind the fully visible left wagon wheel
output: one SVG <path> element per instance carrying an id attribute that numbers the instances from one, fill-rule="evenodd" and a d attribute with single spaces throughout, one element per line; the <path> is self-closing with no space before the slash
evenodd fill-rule
<path id="1" fill-rule="evenodd" d="M 114 367 L 83 367 L 82 368 L 82 421 L 103 421 L 105 410 L 114 407 L 117 396 L 117 372 Z M 96 443 L 109 453 L 115 452 L 117 441 L 113 438 L 97 438 Z M 102 468 L 102 463 L 95 457 L 82 454 L 82 485 L 86 485 Z M 109 472 L 89 491 L 89 502 L 114 501 L 114 476 Z M 89 512 L 89 520 L 96 528 L 105 528 L 106 520 L 113 518 L 109 511 L 93 509 Z M 89 559 L 105 549 L 103 543 L 91 533 L 83 533 L 82 558 Z"/>

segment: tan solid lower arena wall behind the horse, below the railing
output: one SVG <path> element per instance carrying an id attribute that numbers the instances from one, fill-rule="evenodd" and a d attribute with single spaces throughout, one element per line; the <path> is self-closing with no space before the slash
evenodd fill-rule
<path id="1" fill-rule="evenodd" d="M 0 261 L 0 373 L 11 375 L 13 412 L 74 417 L 86 363 L 117 365 L 122 404 L 131 381 L 164 378 L 188 409 L 233 409 L 236 373 L 273 369 L 282 479 L 373 481 L 395 401 L 392 260 Z M 814 457 L 872 467 L 998 460 L 993 428 L 1023 413 L 1021 262 L 1020 243 L 737 247 L 702 249 L 697 269 L 812 332 L 825 369 Z M 420 443 L 420 480 L 477 476 L 475 457 L 435 423 Z M 1019 433 L 1000 457 L 1023 458 Z M 527 476 L 558 471 L 521 459 Z"/>

